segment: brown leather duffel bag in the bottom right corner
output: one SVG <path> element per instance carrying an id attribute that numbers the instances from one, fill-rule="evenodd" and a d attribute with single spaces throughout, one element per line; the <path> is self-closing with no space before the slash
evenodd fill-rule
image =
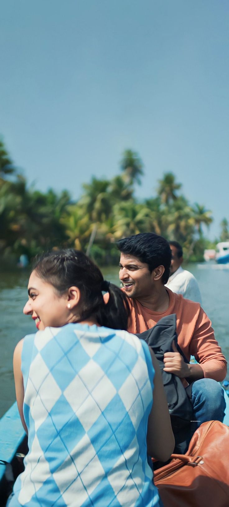
<path id="1" fill-rule="evenodd" d="M 229 427 L 204 422 L 195 431 L 186 454 L 154 473 L 164 507 L 229 506 Z"/>

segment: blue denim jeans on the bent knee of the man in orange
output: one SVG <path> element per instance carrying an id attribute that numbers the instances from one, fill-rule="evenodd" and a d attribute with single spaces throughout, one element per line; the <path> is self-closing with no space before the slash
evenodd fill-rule
<path id="1" fill-rule="evenodd" d="M 192 385 L 192 402 L 197 428 L 202 422 L 223 421 L 226 402 L 222 387 L 216 380 L 196 380 Z"/>

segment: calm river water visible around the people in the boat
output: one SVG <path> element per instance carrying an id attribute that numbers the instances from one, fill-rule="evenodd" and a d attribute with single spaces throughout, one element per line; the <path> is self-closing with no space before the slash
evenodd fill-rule
<path id="1" fill-rule="evenodd" d="M 215 264 L 190 264 L 186 269 L 197 278 L 202 306 L 211 318 L 215 337 L 229 360 L 229 269 Z M 119 285 L 117 267 L 103 268 L 106 280 Z M 0 273 L 0 417 L 15 401 L 13 352 L 17 342 L 35 332 L 34 321 L 22 313 L 27 300 L 29 271 Z M 229 376 L 227 376 L 229 380 Z"/>

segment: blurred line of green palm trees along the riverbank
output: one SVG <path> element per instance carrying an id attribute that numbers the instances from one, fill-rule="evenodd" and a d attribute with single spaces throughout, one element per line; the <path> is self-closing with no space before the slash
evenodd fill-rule
<path id="1" fill-rule="evenodd" d="M 190 204 L 172 172 L 158 180 L 156 195 L 138 200 L 143 163 L 126 150 L 120 172 L 111 179 L 93 176 L 82 195 L 73 201 L 68 191 L 47 192 L 28 186 L 0 141 L 0 255 L 33 258 L 47 249 L 74 247 L 87 252 L 100 265 L 116 263 L 116 241 L 131 234 L 155 232 L 182 244 L 187 260 L 203 260 L 205 248 L 214 247 L 203 234 L 212 213 Z M 226 219 L 219 239 L 229 237 Z"/>

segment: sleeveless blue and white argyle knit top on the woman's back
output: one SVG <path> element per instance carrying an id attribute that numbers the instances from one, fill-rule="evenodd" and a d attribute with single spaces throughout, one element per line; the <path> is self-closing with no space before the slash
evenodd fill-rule
<path id="1" fill-rule="evenodd" d="M 10 507 L 159 506 L 143 340 L 96 325 L 46 328 L 25 337 L 21 369 L 29 452 Z"/>

